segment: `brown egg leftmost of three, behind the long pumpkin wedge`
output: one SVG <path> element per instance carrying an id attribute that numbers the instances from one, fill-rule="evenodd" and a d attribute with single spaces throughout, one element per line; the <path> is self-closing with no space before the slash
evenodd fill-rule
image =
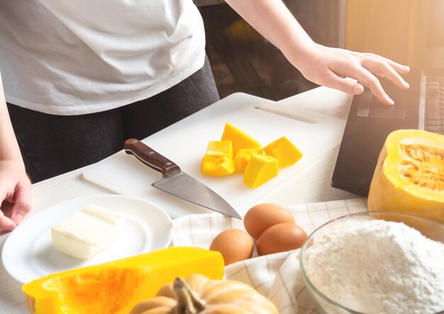
<path id="1" fill-rule="evenodd" d="M 253 251 L 253 241 L 247 232 L 240 229 L 226 229 L 218 234 L 211 242 L 211 251 L 218 251 L 223 256 L 225 265 L 236 261 L 250 259 Z"/>

